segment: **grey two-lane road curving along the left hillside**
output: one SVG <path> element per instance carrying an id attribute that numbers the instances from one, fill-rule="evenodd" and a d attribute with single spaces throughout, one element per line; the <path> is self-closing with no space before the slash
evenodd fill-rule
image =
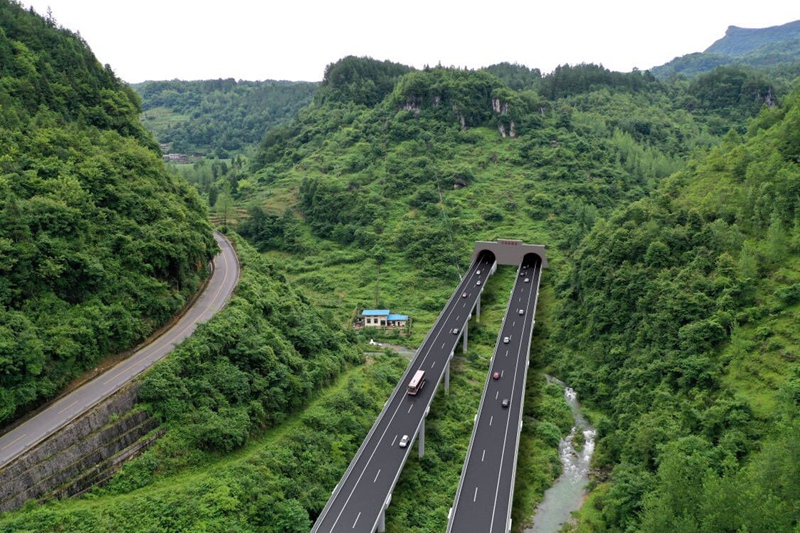
<path id="1" fill-rule="evenodd" d="M 191 336 L 198 324 L 206 322 L 225 307 L 239 281 L 239 260 L 233 245 L 221 233 L 214 232 L 214 239 L 221 252 L 212 261 L 211 278 L 183 316 L 170 329 L 124 361 L 59 398 L 33 418 L 0 437 L 0 468 L 118 391 Z"/>

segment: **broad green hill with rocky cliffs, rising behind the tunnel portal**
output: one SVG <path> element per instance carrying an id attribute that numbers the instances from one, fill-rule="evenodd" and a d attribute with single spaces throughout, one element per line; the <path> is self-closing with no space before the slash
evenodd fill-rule
<path id="1" fill-rule="evenodd" d="M 306 227 L 448 278 L 476 231 L 556 214 L 549 224 L 572 226 L 557 237 L 568 242 L 713 142 L 663 89 L 584 89 L 553 102 L 486 72 L 434 68 L 409 72 L 372 108 L 304 110 L 262 144 L 250 196 L 271 191 L 268 209 L 252 206 L 241 231 L 263 249 L 307 252 L 320 243 Z"/>

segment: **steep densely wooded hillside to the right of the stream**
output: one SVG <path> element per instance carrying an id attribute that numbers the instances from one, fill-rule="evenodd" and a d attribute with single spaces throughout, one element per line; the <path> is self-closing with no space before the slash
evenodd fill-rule
<path id="1" fill-rule="evenodd" d="M 795 92 L 595 225 L 559 277 L 548 359 L 608 417 L 585 531 L 800 524 L 798 132 Z"/>

